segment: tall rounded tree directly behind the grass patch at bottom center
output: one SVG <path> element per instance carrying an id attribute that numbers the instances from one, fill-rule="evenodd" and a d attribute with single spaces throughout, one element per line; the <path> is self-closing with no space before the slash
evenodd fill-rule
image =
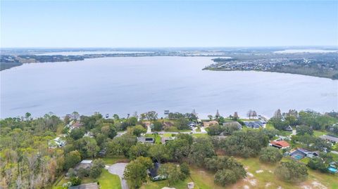
<path id="1" fill-rule="evenodd" d="M 202 166 L 204 159 L 207 157 L 213 157 L 215 151 L 213 144 L 209 138 L 196 138 L 189 154 L 189 162 Z"/>

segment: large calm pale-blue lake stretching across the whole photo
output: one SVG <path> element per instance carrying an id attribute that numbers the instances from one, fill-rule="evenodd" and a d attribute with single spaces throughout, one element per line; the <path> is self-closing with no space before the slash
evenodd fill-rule
<path id="1" fill-rule="evenodd" d="M 94 58 L 68 63 L 31 63 L 1 71 L 1 118 L 73 111 L 103 115 L 155 110 L 200 117 L 272 116 L 275 110 L 338 110 L 338 81 L 272 72 L 202 70 L 207 57 Z"/>

